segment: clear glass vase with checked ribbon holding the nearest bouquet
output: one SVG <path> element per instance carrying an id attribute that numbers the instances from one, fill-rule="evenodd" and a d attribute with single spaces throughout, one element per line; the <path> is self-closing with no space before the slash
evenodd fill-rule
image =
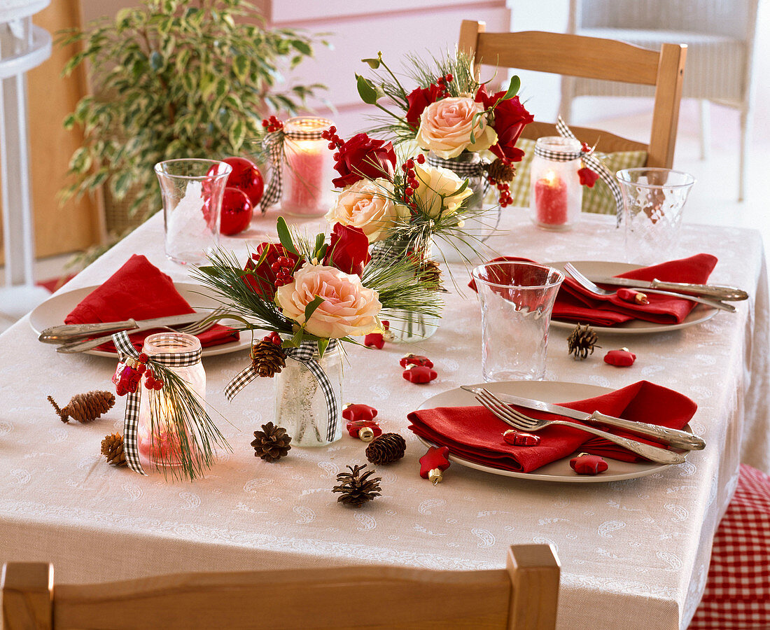
<path id="1" fill-rule="evenodd" d="M 286 367 L 273 378 L 276 381 L 276 419 L 279 427 L 291 436 L 291 445 L 319 447 L 332 444 L 342 437 L 343 369 L 342 352 L 326 351 L 320 357 L 318 350 L 313 354 L 321 369 L 329 378 L 337 408 L 336 430 L 329 439 L 329 411 L 326 397 L 316 377 L 306 364 L 286 358 Z"/>

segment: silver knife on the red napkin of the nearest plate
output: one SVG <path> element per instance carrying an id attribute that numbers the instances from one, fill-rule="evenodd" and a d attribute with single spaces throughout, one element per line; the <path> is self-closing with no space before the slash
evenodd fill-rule
<path id="1" fill-rule="evenodd" d="M 478 389 L 477 387 L 471 387 L 469 385 L 460 385 L 460 388 L 474 394 L 475 390 Z M 601 414 L 599 411 L 594 411 L 593 414 L 587 414 L 585 411 L 576 411 L 569 407 L 561 407 L 561 405 L 545 403 L 542 400 L 531 400 L 531 398 L 523 398 L 511 394 L 494 392 L 494 395 L 506 403 L 516 404 L 519 407 L 544 411 L 547 414 L 571 417 L 587 424 L 604 424 L 609 427 L 617 427 L 618 429 L 623 429 L 624 431 L 629 431 L 637 435 L 652 437 L 654 440 L 671 444 L 671 446 L 676 448 L 684 448 L 687 451 L 701 451 L 706 446 L 705 440 L 702 437 L 698 437 L 687 431 L 659 427 L 657 424 L 646 424 L 644 422 L 624 420 L 623 418 Z"/>

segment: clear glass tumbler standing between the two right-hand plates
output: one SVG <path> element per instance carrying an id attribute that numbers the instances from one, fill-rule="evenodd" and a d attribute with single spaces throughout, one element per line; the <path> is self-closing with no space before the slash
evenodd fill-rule
<path id="1" fill-rule="evenodd" d="M 484 380 L 541 380 L 551 310 L 564 274 L 518 262 L 486 263 L 471 273 L 481 303 Z"/>

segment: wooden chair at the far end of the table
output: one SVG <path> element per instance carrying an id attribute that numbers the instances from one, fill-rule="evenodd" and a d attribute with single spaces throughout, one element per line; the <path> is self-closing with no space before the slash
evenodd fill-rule
<path id="1" fill-rule="evenodd" d="M 670 169 L 674 163 L 681 85 L 687 46 L 664 44 L 661 51 L 612 39 L 526 31 L 487 33 L 484 22 L 463 20 L 459 49 L 484 63 L 506 68 L 655 86 L 652 132 L 648 145 L 596 129 L 572 127 L 575 136 L 601 152 L 647 151 L 647 166 Z M 567 121 L 568 122 L 568 121 Z M 558 136 L 554 125 L 533 122 L 522 137 Z"/>

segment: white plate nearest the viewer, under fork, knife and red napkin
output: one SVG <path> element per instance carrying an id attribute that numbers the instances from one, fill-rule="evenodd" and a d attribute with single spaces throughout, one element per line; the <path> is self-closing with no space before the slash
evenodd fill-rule
<path id="1" fill-rule="evenodd" d="M 567 398 L 570 398 L 570 396 L 558 396 L 557 390 L 564 390 L 565 388 L 574 388 L 575 390 L 581 390 L 581 394 L 585 394 L 584 398 L 590 398 L 594 396 L 600 396 L 601 394 L 608 394 L 609 392 L 613 391 L 610 387 L 601 387 L 601 385 L 589 385 L 584 383 L 571 383 L 564 380 L 500 380 L 500 381 L 494 381 L 491 383 L 477 383 L 470 385 L 469 387 L 486 387 L 491 392 L 500 392 L 502 394 L 509 393 L 514 395 L 520 395 L 524 397 L 530 397 L 530 398 L 537 398 L 538 400 L 545 400 L 546 402 L 559 402 L 567 400 Z M 521 393 L 521 390 L 535 390 L 536 395 L 531 395 L 533 392 L 527 391 L 527 393 Z M 540 390 L 540 391 L 538 391 Z M 462 390 L 460 387 L 455 387 L 451 390 L 445 390 L 443 392 L 440 392 L 440 394 L 435 394 L 434 396 L 431 396 L 427 400 L 423 401 L 423 404 L 418 407 L 418 409 L 430 409 L 432 407 L 446 407 L 447 404 L 437 404 L 433 402 L 434 400 L 437 400 L 441 397 L 447 397 L 448 395 L 454 395 L 454 396 L 462 396 L 464 398 L 467 398 L 468 406 L 471 405 L 477 405 L 474 395 L 471 394 L 469 391 Z M 578 400 L 577 397 L 574 397 L 574 400 Z M 452 403 L 452 406 L 457 406 L 456 403 Z M 685 425 L 685 431 L 691 431 L 689 424 Z M 432 443 L 430 440 L 424 439 L 423 437 L 416 436 L 418 440 L 420 440 L 423 444 L 427 446 L 435 446 L 434 443 Z M 621 462 L 619 460 L 614 459 L 608 459 L 608 464 L 610 465 L 609 470 L 611 471 L 613 464 L 616 466 L 620 466 L 621 468 L 625 467 L 634 467 L 634 471 L 625 472 L 625 473 L 616 473 L 616 474 L 596 474 L 596 475 L 586 475 L 586 474 L 577 474 L 570 468 L 569 460 L 571 457 L 574 457 L 574 455 L 577 454 L 577 451 L 573 454 L 567 455 L 567 457 L 562 457 L 561 460 L 557 460 L 554 462 L 551 462 L 551 464 L 546 464 L 545 466 L 541 466 L 540 468 L 537 468 L 537 470 L 534 470 L 529 473 L 522 473 L 517 471 L 504 471 L 500 468 L 495 468 L 491 466 L 485 466 L 484 464 L 477 464 L 474 461 L 468 461 L 464 459 L 463 457 L 458 457 L 457 455 L 450 454 L 449 460 L 454 461 L 457 464 L 460 464 L 461 466 L 465 466 L 468 468 L 474 468 L 477 471 L 483 471 L 490 474 L 495 474 L 501 477 L 513 477 L 517 479 L 527 479 L 528 481 L 546 481 L 551 483 L 567 483 L 567 484 L 598 484 L 598 483 L 609 483 L 610 481 L 623 481 L 625 479 L 638 479 L 641 477 L 647 477 L 650 474 L 654 474 L 657 472 L 665 471 L 666 468 L 678 465 L 678 464 L 657 464 L 655 462 Z M 683 453 L 685 454 L 685 457 L 687 455 L 686 451 Z M 560 466 L 560 464 L 565 464 L 566 469 L 570 471 L 570 474 L 549 474 L 548 471 L 553 469 L 554 467 L 564 467 Z"/>

